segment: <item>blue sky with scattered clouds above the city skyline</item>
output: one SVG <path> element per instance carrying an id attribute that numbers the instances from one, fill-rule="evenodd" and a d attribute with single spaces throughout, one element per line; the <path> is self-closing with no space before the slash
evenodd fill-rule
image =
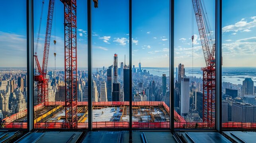
<path id="1" fill-rule="evenodd" d="M 49 0 L 45 0 L 38 58 L 41 63 Z M 209 22 L 215 32 L 215 2 L 205 0 Z M 12 8 L 7 6 L 12 6 Z M 42 0 L 34 1 L 34 40 L 36 44 Z M 102 0 L 99 8 L 92 8 L 93 66 L 113 64 L 113 54 L 118 62 L 129 64 L 129 2 L 128 0 Z M 223 66 L 256 66 L 256 2 L 254 0 L 223 0 Z M 87 6 L 86 0 L 77 1 L 77 58 L 78 67 L 87 66 Z M 25 0 L 4 1 L 0 6 L 0 67 L 26 66 L 26 9 Z M 169 0 L 133 0 L 133 64 L 141 60 L 144 67 L 169 66 Z M 193 16 L 193 27 L 192 27 Z M 64 65 L 63 4 L 55 0 L 55 15 L 48 67 L 54 66 L 53 36 L 56 29 L 57 67 Z M 56 26 L 55 26 L 56 23 Z M 191 0 L 175 0 L 174 25 L 175 65 L 205 66 L 203 51 Z M 192 32 L 193 31 L 193 32 Z"/>

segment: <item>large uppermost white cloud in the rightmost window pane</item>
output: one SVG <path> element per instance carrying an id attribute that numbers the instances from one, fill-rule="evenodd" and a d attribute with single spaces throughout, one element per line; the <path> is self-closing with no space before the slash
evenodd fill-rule
<path id="1" fill-rule="evenodd" d="M 249 30 L 250 28 L 256 27 L 256 16 L 251 17 L 251 19 L 253 19 L 253 21 L 247 22 L 243 18 L 240 21 L 236 22 L 235 24 L 231 24 L 223 27 L 222 31 L 224 33 L 229 31 L 238 32 L 238 31 L 244 31 L 246 29 Z"/>

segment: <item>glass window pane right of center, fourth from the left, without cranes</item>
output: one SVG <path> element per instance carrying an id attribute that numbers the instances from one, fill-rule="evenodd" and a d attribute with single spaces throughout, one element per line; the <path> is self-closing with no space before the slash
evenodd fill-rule
<path id="1" fill-rule="evenodd" d="M 132 127 L 170 128 L 170 3 L 132 1 Z"/>

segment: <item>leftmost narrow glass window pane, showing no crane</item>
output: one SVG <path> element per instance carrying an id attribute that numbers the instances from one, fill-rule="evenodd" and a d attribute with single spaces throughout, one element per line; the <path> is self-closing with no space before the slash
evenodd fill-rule
<path id="1" fill-rule="evenodd" d="M 26 129 L 26 0 L 3 1 L 0 12 L 0 128 Z"/>

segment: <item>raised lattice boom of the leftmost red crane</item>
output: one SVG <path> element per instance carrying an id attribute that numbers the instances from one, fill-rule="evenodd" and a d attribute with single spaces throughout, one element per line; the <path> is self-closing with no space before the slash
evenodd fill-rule
<path id="1" fill-rule="evenodd" d="M 43 68 L 42 68 L 43 78 L 45 78 L 47 74 L 49 47 L 50 47 L 50 41 L 51 41 L 51 28 L 53 24 L 53 11 L 54 11 L 54 0 L 50 0 L 48 16 L 47 16 L 46 33 L 45 33 L 45 47 L 43 51 Z"/>

